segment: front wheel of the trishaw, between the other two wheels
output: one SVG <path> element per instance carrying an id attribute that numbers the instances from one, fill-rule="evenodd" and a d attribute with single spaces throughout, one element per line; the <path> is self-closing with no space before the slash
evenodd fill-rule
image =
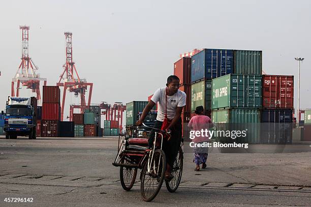
<path id="1" fill-rule="evenodd" d="M 141 171 L 140 192 L 144 201 L 153 200 L 159 193 L 164 181 L 165 169 L 166 158 L 164 152 L 160 149 L 155 150 L 150 164 L 150 172 L 148 172 L 148 161 Z"/>

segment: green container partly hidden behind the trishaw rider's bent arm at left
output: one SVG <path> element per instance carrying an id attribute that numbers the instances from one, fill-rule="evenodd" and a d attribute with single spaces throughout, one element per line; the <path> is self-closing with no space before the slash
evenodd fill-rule
<path id="1" fill-rule="evenodd" d="M 142 112 L 145 106 L 148 104 L 148 101 L 132 101 L 127 103 L 127 119 L 126 125 L 131 126 L 136 124 L 136 118 L 139 112 Z M 152 110 L 156 110 L 157 105 L 155 105 Z"/>

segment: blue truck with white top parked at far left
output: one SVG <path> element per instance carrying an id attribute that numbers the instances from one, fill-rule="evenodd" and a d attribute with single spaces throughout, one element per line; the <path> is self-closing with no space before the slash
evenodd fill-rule
<path id="1" fill-rule="evenodd" d="M 28 136 L 29 140 L 37 135 L 37 98 L 9 97 L 5 118 L 4 131 L 6 139 L 17 139 L 17 136 Z"/>

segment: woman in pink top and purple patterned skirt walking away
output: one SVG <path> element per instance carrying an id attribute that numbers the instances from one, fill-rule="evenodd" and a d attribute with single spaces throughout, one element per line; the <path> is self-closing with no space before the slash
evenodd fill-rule
<path id="1" fill-rule="evenodd" d="M 201 131 L 201 129 L 209 129 L 213 126 L 211 119 L 208 116 L 204 115 L 203 106 L 199 106 L 195 111 L 196 116 L 192 117 L 188 127 L 195 131 Z M 194 143 L 204 143 L 208 142 L 208 136 L 196 136 L 193 140 Z M 206 159 L 208 155 L 208 147 L 194 147 L 194 158 L 193 162 L 197 164 L 195 171 L 200 170 L 200 164 L 202 164 L 202 168 L 206 168 Z"/>

